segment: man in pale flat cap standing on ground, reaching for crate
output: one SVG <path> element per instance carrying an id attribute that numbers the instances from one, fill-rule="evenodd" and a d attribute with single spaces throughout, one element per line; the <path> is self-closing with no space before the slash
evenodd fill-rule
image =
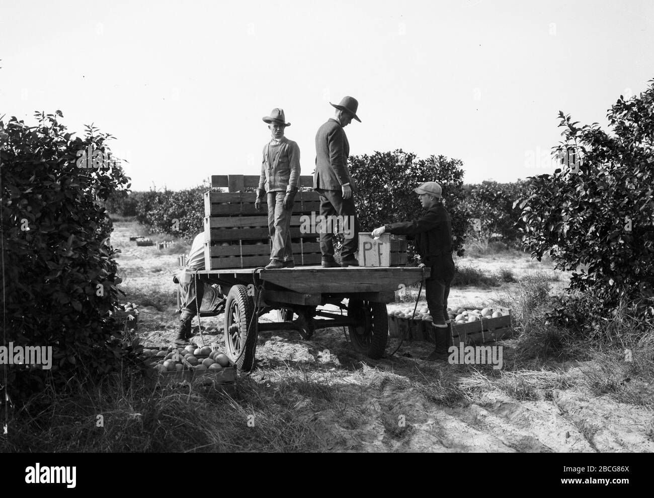
<path id="1" fill-rule="evenodd" d="M 429 360 L 447 357 L 447 297 L 454 277 L 452 259 L 451 219 L 441 203 L 441 186 L 436 182 L 425 182 L 413 189 L 426 212 L 411 222 L 399 222 L 373 230 L 373 237 L 382 233 L 409 235 L 415 239 L 415 248 L 431 274 L 425 280 L 425 294 L 429 312 L 434 319 L 436 348 L 427 357 Z"/>

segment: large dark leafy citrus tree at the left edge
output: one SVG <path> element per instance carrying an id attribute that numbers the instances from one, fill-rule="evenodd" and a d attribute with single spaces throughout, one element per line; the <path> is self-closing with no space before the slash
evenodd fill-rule
<path id="1" fill-rule="evenodd" d="M 9 369 L 14 399 L 43 389 L 48 372 L 60 385 L 117 369 L 127 348 L 110 314 L 120 280 L 101 203 L 129 178 L 119 166 L 79 167 L 89 148 L 108 158 L 111 135 L 89 126 L 74 137 L 62 117 L 37 113 L 34 125 L 0 118 L 5 338 L 53 353 L 50 371 Z"/>

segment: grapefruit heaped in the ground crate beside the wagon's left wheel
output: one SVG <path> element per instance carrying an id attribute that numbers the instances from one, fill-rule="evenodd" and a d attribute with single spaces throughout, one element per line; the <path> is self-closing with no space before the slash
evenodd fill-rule
<path id="1" fill-rule="evenodd" d="M 169 351 L 144 349 L 143 356 L 152 359 L 150 367 L 153 367 L 158 373 L 220 370 L 230 366 L 227 355 L 218 350 L 213 350 L 210 346 L 198 348 L 190 345 L 183 349 L 178 348 Z"/>

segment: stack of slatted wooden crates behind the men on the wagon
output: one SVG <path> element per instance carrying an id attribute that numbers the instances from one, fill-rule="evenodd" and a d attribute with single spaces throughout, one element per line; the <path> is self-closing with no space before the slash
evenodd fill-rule
<path id="1" fill-rule="evenodd" d="M 258 181 L 259 177 L 254 175 L 212 176 L 211 186 L 238 191 L 209 191 L 204 195 L 207 270 L 256 268 L 270 262 L 267 204 L 262 203 L 261 210 L 257 210 L 254 207 L 256 193 L 243 191 L 245 187 L 256 186 Z M 300 177 L 301 186 L 311 186 L 312 182 L 311 176 Z M 319 235 L 315 226 L 311 226 L 311 213 L 315 220 L 319 210 L 320 202 L 315 191 L 298 191 L 291 218 L 291 241 L 296 266 L 320 264 Z M 302 225 L 304 230 L 300 229 Z"/>

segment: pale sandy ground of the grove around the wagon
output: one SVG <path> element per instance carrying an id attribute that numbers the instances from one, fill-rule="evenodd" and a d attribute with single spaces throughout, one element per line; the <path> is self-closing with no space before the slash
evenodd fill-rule
<path id="1" fill-rule="evenodd" d="M 167 306 L 141 309 L 139 335 L 144 344 L 167 345 L 175 337 L 177 315 L 172 274 L 177 256 L 156 247 L 137 247 L 129 235 L 134 223 L 117 222 L 112 244 L 122 253 L 116 259 L 125 282 L 121 287 L 159 293 Z M 462 258 L 457 264 L 494 271 L 510 267 L 515 276 L 531 271 L 550 271 L 544 263 L 528 257 Z M 565 286 L 564 276 L 554 282 Z M 501 288 L 453 289 L 450 303 L 487 305 L 511 284 Z M 169 298 L 169 299 L 168 299 Z M 137 299 L 133 297 L 133 300 Z M 389 305 L 388 308 L 406 307 Z M 205 342 L 222 346 L 222 315 L 203 318 L 213 330 Z M 274 313 L 262 321 L 277 321 Z M 196 342 L 199 342 L 196 337 Z M 507 343 L 510 348 L 510 341 Z M 389 341 L 389 352 L 398 345 Z M 594 395 L 589 378 L 597 365 L 568 363 L 543 370 L 492 371 L 447 361 L 421 360 L 433 346 L 405 342 L 394 356 L 379 361 L 354 352 L 343 329 L 318 331 L 303 341 L 297 333 L 275 331 L 258 339 L 256 356 L 260 369 L 251 378 L 262 390 L 275 389 L 275 375 L 298 369 L 337 390 L 334 403 L 325 408 L 312 405 L 310 396 L 296 393 L 298 416 L 315 426 L 328 450 L 371 452 L 651 452 L 654 450 L 652 411 L 642 405 L 619 403 L 609 394 Z M 619 375 L 619 373 L 617 373 Z M 422 388 L 425 382 L 443 390 Z M 623 381 L 623 384 L 625 382 Z M 464 399 L 448 401 L 447 386 L 466 393 Z M 526 394 L 525 394 L 526 393 Z M 650 393 L 651 394 L 651 393 Z M 332 406 L 333 405 L 333 406 Z M 649 405 L 651 407 L 651 404 Z"/>

